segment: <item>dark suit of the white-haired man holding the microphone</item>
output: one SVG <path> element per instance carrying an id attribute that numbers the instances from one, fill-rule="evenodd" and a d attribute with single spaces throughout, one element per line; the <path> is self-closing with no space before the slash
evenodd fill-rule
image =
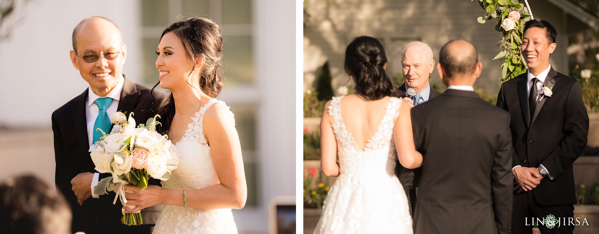
<path id="1" fill-rule="evenodd" d="M 435 89 L 432 89 L 428 95 L 428 100 L 437 98 L 441 93 Z M 398 98 L 406 98 L 406 84 L 402 84 L 397 89 L 397 97 Z M 427 101 L 428 101 L 427 100 Z M 400 179 L 401 186 L 404 187 L 404 192 L 406 192 L 406 196 L 409 200 L 409 208 L 410 214 L 414 214 L 414 208 L 416 207 L 416 189 L 418 187 L 418 178 L 420 177 L 420 173 L 422 172 L 422 168 L 416 169 L 407 169 L 401 166 L 400 161 L 395 159 L 395 175 Z"/>

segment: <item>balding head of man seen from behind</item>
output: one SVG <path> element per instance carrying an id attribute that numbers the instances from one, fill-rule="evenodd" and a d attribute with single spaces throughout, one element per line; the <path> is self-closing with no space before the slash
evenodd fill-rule
<path id="1" fill-rule="evenodd" d="M 463 39 L 447 42 L 439 53 L 439 65 L 447 78 L 474 74 L 478 62 L 476 48 Z"/>

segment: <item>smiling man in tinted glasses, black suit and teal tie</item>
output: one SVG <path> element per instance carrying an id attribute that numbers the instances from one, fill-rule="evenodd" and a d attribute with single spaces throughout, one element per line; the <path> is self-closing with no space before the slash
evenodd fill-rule
<path id="1" fill-rule="evenodd" d="M 52 114 L 56 187 L 71 205 L 72 232 L 150 233 L 160 207 L 144 209 L 144 224 L 129 227 L 120 222 L 122 205 L 119 200 L 113 205 L 113 192 L 93 194 L 98 180 L 111 175 L 94 170 L 89 147 L 102 135 L 96 128 L 110 132 L 110 116 L 116 111 L 133 112 L 137 123 L 146 123 L 165 95 L 152 95 L 148 87 L 122 74 L 127 47 L 114 22 L 100 16 L 81 21 L 73 30 L 72 44 L 71 62 L 89 88 Z M 149 183 L 159 185 L 156 180 Z"/>

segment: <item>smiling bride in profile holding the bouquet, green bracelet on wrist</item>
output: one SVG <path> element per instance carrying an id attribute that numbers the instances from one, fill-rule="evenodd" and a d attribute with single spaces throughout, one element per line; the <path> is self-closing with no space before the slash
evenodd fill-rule
<path id="1" fill-rule="evenodd" d="M 233 114 L 215 99 L 222 87 L 219 26 L 200 17 L 173 23 L 156 53 L 159 84 L 171 91 L 158 110 L 159 130 L 181 162 L 162 187 L 126 186 L 134 192 L 128 205 L 137 205 L 126 211 L 166 205 L 153 233 L 237 233 L 231 209 L 243 208 L 247 187 Z"/>

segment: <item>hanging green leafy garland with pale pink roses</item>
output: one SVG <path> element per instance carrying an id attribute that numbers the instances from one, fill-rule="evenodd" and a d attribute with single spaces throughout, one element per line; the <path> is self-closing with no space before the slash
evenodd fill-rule
<path id="1" fill-rule="evenodd" d="M 501 41 L 497 44 L 501 51 L 493 59 L 505 61 L 501 64 L 501 80 L 507 81 L 524 73 L 528 67 L 520 48 L 524 23 L 531 18 L 528 8 L 518 0 L 478 1 L 480 7 L 486 11 L 485 16 L 477 19 L 478 22 L 485 23 L 486 20 L 496 19 L 495 30 L 501 32 Z"/>

